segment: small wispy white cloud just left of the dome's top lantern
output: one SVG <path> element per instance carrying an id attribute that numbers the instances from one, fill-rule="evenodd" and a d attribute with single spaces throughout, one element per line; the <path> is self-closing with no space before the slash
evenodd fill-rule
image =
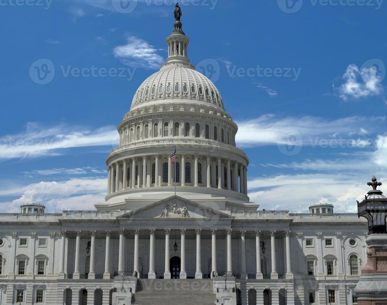
<path id="1" fill-rule="evenodd" d="M 129 36 L 126 45 L 116 46 L 113 49 L 114 56 L 126 65 L 148 69 L 158 68 L 164 62 L 157 51 L 147 41 L 135 36 Z"/>

